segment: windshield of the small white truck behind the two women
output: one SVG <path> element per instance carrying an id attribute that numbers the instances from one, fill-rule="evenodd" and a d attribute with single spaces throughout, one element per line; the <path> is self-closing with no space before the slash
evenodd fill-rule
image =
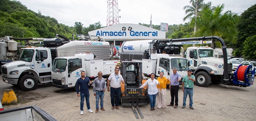
<path id="1" fill-rule="evenodd" d="M 175 67 L 178 71 L 188 70 L 187 59 L 183 58 L 173 58 L 171 59 L 172 69 Z"/>

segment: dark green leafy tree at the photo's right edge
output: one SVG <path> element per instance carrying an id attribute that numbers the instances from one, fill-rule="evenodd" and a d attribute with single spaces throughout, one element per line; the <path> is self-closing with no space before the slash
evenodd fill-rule
<path id="1" fill-rule="evenodd" d="M 241 20 L 237 24 L 237 29 L 239 30 L 239 33 L 237 36 L 237 43 L 233 44 L 233 54 L 234 56 L 240 57 L 242 56 L 243 47 L 251 45 L 248 42 L 244 43 L 245 39 L 256 35 L 256 4 L 252 5 L 252 7 L 248 8 L 241 14 Z M 256 50 L 256 48 L 253 49 L 254 51 Z"/>

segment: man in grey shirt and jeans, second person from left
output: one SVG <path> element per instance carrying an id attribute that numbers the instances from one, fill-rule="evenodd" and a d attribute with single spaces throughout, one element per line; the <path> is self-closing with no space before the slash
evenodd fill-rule
<path id="1" fill-rule="evenodd" d="M 93 93 L 96 97 L 96 110 L 95 113 L 99 112 L 99 98 L 101 98 L 101 110 L 105 111 L 103 108 L 103 98 L 104 98 L 104 92 L 106 90 L 106 81 L 105 78 L 102 78 L 102 72 L 98 72 L 98 77 L 94 79 L 94 85 L 93 85 Z"/>

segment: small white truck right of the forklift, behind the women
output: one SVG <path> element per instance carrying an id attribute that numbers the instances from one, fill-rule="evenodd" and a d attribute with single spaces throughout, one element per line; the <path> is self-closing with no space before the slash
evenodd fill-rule
<path id="1" fill-rule="evenodd" d="M 160 77 L 159 73 L 164 72 L 164 77 L 170 78 L 175 67 L 181 78 L 187 75 L 189 62 L 185 58 L 173 57 L 168 54 L 150 54 L 150 59 L 142 59 L 142 72 L 146 77 L 150 77 L 151 73 L 155 73 L 156 77 Z M 181 82 L 180 82 L 181 85 Z"/>

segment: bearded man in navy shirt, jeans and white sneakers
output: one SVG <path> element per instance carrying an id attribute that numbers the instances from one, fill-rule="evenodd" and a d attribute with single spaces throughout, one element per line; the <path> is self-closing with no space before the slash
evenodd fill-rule
<path id="1" fill-rule="evenodd" d="M 86 99 L 87 111 L 90 113 L 93 113 L 93 111 L 90 108 L 90 101 L 89 101 L 90 94 L 89 94 L 88 84 L 92 85 L 90 79 L 88 77 L 85 77 L 85 71 L 82 71 L 81 77 L 76 81 L 77 96 L 81 97 L 81 102 L 80 102 L 81 115 L 83 115 L 84 97 Z M 79 94 L 79 86 L 80 86 L 80 94 Z"/>

